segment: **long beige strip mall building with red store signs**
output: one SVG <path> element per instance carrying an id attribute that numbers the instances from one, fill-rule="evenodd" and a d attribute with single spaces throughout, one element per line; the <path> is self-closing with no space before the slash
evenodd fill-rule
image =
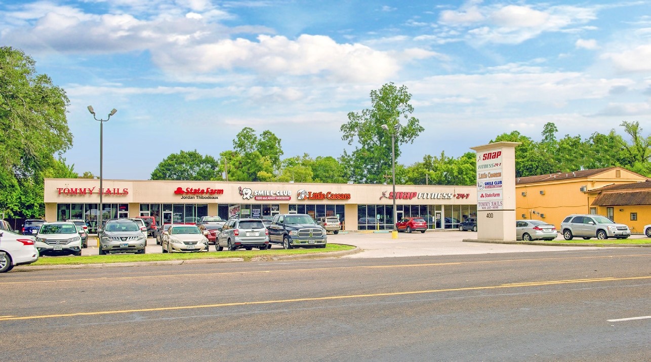
<path id="1" fill-rule="evenodd" d="M 202 216 L 270 218 L 275 214 L 337 216 L 346 230 L 393 229 L 390 185 L 271 182 L 103 180 L 102 218 L 154 216 L 159 224 Z M 99 180 L 46 178 L 46 220 L 100 214 Z M 456 229 L 477 216 L 475 186 L 396 185 L 396 216 L 422 217 L 429 229 Z"/>

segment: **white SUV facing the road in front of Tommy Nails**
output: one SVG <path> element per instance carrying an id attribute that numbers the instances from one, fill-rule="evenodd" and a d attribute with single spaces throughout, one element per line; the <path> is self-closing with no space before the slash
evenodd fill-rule
<path id="1" fill-rule="evenodd" d="M 44 223 L 36 234 L 36 249 L 40 255 L 81 255 L 81 236 L 77 225 L 68 221 Z"/>

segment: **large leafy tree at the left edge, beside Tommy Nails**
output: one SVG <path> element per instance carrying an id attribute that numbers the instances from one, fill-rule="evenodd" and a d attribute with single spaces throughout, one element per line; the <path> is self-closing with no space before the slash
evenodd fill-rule
<path id="1" fill-rule="evenodd" d="M 36 74 L 35 64 L 0 47 L 0 210 L 9 217 L 44 214 L 43 178 L 61 166 L 55 155 L 72 146 L 66 92 Z"/>

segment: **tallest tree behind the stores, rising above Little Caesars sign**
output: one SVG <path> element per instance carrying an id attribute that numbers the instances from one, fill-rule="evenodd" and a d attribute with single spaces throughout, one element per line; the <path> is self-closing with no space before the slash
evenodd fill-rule
<path id="1" fill-rule="evenodd" d="M 346 169 L 346 177 L 359 183 L 383 183 L 384 175 L 391 174 L 391 134 L 395 133 L 395 158 L 400 157 L 400 145 L 413 143 L 424 130 L 418 118 L 412 117 L 409 104 L 411 94 L 404 85 L 383 85 L 370 92 L 372 107 L 361 113 L 348 113 L 348 122 L 342 124 L 342 139 L 348 145 L 358 143 L 355 150 L 344 154 L 340 161 Z M 404 120 L 402 124 L 400 121 Z M 398 131 L 397 124 L 402 124 Z M 389 131 L 383 130 L 386 125 Z M 396 180 L 397 182 L 397 180 Z"/>

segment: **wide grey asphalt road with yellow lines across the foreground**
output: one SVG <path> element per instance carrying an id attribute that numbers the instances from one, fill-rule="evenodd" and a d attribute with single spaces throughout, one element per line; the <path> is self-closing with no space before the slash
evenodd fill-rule
<path id="1" fill-rule="evenodd" d="M 651 251 L 0 276 L 7 361 L 648 361 Z M 633 319 L 629 319 L 633 318 Z"/>

